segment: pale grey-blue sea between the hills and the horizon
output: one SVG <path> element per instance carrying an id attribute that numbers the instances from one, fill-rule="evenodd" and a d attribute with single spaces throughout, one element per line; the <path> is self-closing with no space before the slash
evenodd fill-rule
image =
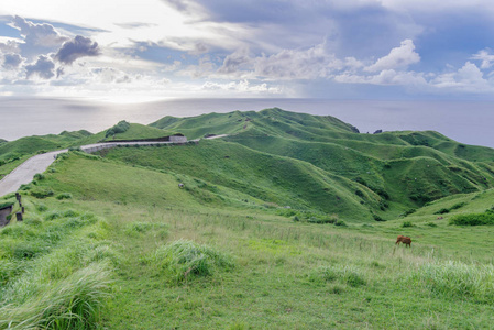
<path id="1" fill-rule="evenodd" d="M 494 147 L 494 103 L 483 101 L 383 101 L 325 99 L 169 99 L 105 103 L 79 99 L 0 98 L 0 139 L 108 129 L 120 120 L 149 124 L 165 116 L 191 117 L 278 107 L 332 116 L 361 133 L 438 131 L 464 144 Z"/>

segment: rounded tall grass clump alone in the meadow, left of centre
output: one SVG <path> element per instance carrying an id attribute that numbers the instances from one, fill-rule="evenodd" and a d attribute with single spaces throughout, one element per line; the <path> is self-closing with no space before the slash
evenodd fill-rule
<path id="1" fill-rule="evenodd" d="M 229 270 L 233 262 L 207 245 L 178 240 L 156 250 L 150 262 L 164 270 L 172 280 L 180 283 L 194 276 L 208 276 L 216 270 Z"/>

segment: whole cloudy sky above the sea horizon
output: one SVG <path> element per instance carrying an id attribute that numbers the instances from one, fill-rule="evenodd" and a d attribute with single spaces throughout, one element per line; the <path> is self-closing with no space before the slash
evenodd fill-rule
<path id="1" fill-rule="evenodd" d="M 2 0 L 0 96 L 494 98 L 492 0 Z"/>

